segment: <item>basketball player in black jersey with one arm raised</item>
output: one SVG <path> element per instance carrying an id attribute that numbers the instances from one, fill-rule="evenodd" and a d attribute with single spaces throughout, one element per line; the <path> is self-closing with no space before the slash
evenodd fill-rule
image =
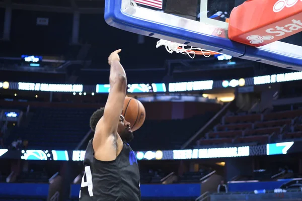
<path id="1" fill-rule="evenodd" d="M 84 159 L 80 201 L 140 200 L 139 170 L 134 152 L 126 143 L 133 138 L 130 123 L 121 115 L 127 78 L 118 53 L 108 58 L 110 92 L 105 108 L 90 119 L 95 132 L 88 143 Z"/>

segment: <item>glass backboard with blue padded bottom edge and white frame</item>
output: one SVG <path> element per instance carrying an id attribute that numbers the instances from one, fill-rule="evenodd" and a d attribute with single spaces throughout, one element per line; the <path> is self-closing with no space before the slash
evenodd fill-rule
<path id="1" fill-rule="evenodd" d="M 262 0 L 250 1 L 257 3 Z M 278 5 L 279 2 L 286 3 L 286 0 L 271 1 Z M 301 12 L 297 15 L 300 14 L 302 19 L 302 0 L 292 1 L 296 1 L 294 6 L 300 9 Z M 105 20 L 109 25 L 125 31 L 302 70 L 302 32 L 287 37 L 282 42 L 276 41 L 261 47 L 229 39 L 229 23 L 226 19 L 230 18 L 235 7 L 243 3 L 243 0 L 106 0 Z M 292 7 L 285 6 L 288 9 Z M 257 15 L 266 16 L 264 12 L 265 9 L 255 10 Z M 298 26 L 294 28 L 299 29 Z M 302 27 L 298 31 L 302 31 Z"/>

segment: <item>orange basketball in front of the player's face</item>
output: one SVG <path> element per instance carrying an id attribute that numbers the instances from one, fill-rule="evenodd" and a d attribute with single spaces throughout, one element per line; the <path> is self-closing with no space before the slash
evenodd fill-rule
<path id="1" fill-rule="evenodd" d="M 124 116 L 125 120 L 131 124 L 131 130 L 136 131 L 144 123 L 146 112 L 139 100 L 132 97 L 126 97 L 122 116 Z"/>

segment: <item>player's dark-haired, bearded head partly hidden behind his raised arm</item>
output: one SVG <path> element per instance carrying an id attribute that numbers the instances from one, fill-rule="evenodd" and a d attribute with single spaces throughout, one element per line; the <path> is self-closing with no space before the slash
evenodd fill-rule
<path id="1" fill-rule="evenodd" d="M 90 128 L 93 130 L 93 132 L 96 131 L 96 126 L 99 120 L 103 117 L 103 115 L 104 115 L 104 108 L 101 108 L 92 114 L 90 118 Z M 120 116 L 118 122 L 117 133 L 120 135 L 123 141 L 130 141 L 133 139 L 130 123 L 127 122 L 122 115 Z"/>

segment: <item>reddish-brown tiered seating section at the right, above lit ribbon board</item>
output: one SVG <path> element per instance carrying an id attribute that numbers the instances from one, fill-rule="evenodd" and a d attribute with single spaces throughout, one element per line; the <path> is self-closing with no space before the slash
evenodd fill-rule
<path id="1" fill-rule="evenodd" d="M 302 110 L 269 114 L 227 114 L 198 145 L 259 143 L 302 137 Z"/>

